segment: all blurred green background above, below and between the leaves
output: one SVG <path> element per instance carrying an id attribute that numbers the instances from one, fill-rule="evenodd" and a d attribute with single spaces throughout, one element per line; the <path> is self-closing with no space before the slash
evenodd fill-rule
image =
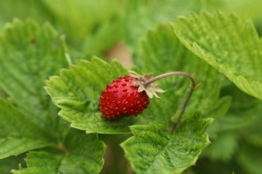
<path id="1" fill-rule="evenodd" d="M 261 0 L 1 0 L 0 32 L 5 23 L 14 18 L 34 19 L 39 23 L 51 23 L 60 34 L 66 36 L 68 52 L 74 63 L 94 55 L 101 58 L 119 58 L 123 65 L 139 67 L 139 44 L 148 30 L 159 23 L 173 22 L 179 15 L 206 10 L 234 12 L 243 20 L 251 19 L 262 34 Z M 1 93 L 1 91 L 0 91 Z M 221 96 L 232 96 L 233 104 L 227 116 L 212 134 L 212 144 L 206 148 L 196 165 L 185 173 L 234 173 L 262 174 L 262 109 L 261 100 L 254 99 L 224 80 Z M 0 94 L 4 96 L 4 94 Z M 243 112 L 243 110 L 245 110 Z M 245 115 L 245 116 L 244 116 Z M 236 119 L 242 116 L 241 119 Z M 231 121 L 231 122 L 230 122 Z M 114 136 L 114 141 L 110 136 Z M 122 173 L 128 165 L 123 151 L 117 144 L 128 135 L 101 135 L 107 149 L 102 173 Z M 110 155 L 111 151 L 114 154 Z M 0 161 L 0 173 L 17 168 L 24 155 Z M 109 160 L 107 160 L 109 159 Z M 108 163 L 107 161 L 110 161 Z"/>

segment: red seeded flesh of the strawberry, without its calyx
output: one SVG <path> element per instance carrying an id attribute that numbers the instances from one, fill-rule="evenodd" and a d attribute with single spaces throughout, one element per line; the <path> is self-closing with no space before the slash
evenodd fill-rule
<path id="1" fill-rule="evenodd" d="M 120 77 L 102 91 L 99 107 L 103 117 L 114 120 L 119 116 L 137 116 L 150 103 L 145 91 L 131 85 L 131 76 Z"/>

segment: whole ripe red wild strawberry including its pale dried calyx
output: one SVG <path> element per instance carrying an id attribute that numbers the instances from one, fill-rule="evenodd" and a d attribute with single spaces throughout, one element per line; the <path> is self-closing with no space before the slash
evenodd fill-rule
<path id="1" fill-rule="evenodd" d="M 163 92 L 153 83 L 143 86 L 146 80 L 152 78 L 151 74 L 140 76 L 132 72 L 130 76 L 123 76 L 113 80 L 106 86 L 100 97 L 99 108 L 105 119 L 114 120 L 121 116 L 137 116 L 142 113 L 150 103 L 155 91 Z M 154 89 L 154 90 L 152 90 Z"/>

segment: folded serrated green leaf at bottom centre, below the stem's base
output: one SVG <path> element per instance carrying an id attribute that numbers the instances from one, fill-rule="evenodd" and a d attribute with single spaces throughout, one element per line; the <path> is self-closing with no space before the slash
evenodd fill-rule
<path id="1" fill-rule="evenodd" d="M 173 135 L 155 124 L 130 127 L 133 137 L 121 144 L 136 173 L 181 173 L 196 162 L 208 145 L 212 119 L 194 113 Z"/>

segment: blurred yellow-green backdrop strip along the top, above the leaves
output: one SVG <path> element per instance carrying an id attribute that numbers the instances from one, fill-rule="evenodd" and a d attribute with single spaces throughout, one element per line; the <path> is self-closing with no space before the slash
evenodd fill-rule
<path id="1" fill-rule="evenodd" d="M 139 40 L 149 29 L 190 11 L 235 12 L 243 19 L 252 19 L 261 33 L 261 6 L 260 0 L 1 0 L 0 31 L 15 17 L 48 21 L 66 35 L 70 53 L 77 58 L 94 54 L 105 57 L 119 41 L 135 54 Z"/>

